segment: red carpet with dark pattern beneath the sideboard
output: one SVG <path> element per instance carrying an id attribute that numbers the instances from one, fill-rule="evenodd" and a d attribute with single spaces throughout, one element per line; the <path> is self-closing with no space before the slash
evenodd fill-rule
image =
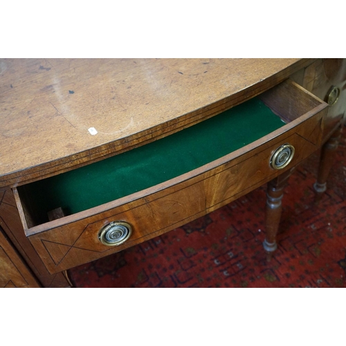
<path id="1" fill-rule="evenodd" d="M 265 186 L 121 253 L 69 271 L 75 287 L 346 287 L 346 131 L 313 203 L 318 155 L 289 179 L 278 248 L 266 262 Z"/>

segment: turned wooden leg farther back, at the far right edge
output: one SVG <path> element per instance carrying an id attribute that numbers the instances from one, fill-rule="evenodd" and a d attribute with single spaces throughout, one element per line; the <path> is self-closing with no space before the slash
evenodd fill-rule
<path id="1" fill-rule="evenodd" d="M 327 178 L 331 169 L 331 165 L 334 163 L 336 148 L 338 147 L 341 132 L 342 127 L 339 127 L 321 148 L 318 177 L 316 183 L 313 184 L 313 188 L 316 192 L 316 203 L 318 203 L 320 199 L 322 199 L 323 192 L 325 192 L 325 190 L 327 189 Z"/>

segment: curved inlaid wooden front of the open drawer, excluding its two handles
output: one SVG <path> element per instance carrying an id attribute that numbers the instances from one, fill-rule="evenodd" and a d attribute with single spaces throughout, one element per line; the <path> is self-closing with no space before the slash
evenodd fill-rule
<path id="1" fill-rule="evenodd" d="M 56 273 L 161 235 L 224 206 L 307 158 L 318 147 L 320 120 L 319 116 L 310 118 L 304 127 L 165 190 L 31 235 L 30 242 L 48 270 Z M 304 138 L 307 129 L 309 135 Z M 274 170 L 271 156 L 285 143 L 295 147 L 293 159 L 284 170 Z M 100 229 L 112 221 L 126 221 L 132 227 L 131 237 L 119 246 L 106 246 L 98 237 Z"/>

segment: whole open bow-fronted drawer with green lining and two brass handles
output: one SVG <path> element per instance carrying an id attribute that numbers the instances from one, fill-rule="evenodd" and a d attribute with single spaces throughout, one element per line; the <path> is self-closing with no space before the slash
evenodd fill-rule
<path id="1" fill-rule="evenodd" d="M 326 114 L 286 80 L 171 136 L 14 188 L 25 233 L 51 273 L 139 244 L 300 163 L 320 147 Z M 66 216 L 49 221 L 56 208 Z"/>

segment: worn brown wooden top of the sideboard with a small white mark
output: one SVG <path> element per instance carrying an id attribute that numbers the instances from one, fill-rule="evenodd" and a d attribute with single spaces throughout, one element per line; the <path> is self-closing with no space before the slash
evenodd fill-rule
<path id="1" fill-rule="evenodd" d="M 0 188 L 72 170 L 244 102 L 308 59 L 1 59 Z"/>

